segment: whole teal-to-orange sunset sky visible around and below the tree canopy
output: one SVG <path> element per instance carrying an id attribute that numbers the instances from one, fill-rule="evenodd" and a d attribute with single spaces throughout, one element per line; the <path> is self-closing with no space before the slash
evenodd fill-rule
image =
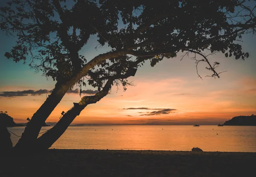
<path id="1" fill-rule="evenodd" d="M 7 37 L 0 31 L 0 40 L 1 93 L 54 88 L 55 82 L 51 78 L 47 80 L 41 73 L 35 74 L 27 63 L 15 63 L 4 57 L 4 53 L 15 44 L 15 37 Z M 180 61 L 182 53 L 176 58 L 165 59 L 154 67 L 145 63 L 138 69 L 135 77 L 128 79 L 135 86 L 128 86 L 127 91 L 117 91 L 113 87 L 111 94 L 98 103 L 87 106 L 73 123 L 210 125 L 224 123 L 234 116 L 256 114 L 256 36 L 246 34 L 242 40 L 244 51 L 250 54 L 245 61 L 235 60 L 234 57 L 226 58 L 222 53 L 209 56 L 212 63 L 221 63 L 217 72 L 227 71 L 219 79 L 204 77 L 210 73 L 204 69 L 206 65 L 203 63 L 198 67 L 203 80 L 198 78 L 195 61 L 189 57 Z M 97 45 L 96 37 L 91 36 L 81 54 L 90 60 L 109 50 L 107 47 L 96 50 Z M 88 86 L 82 89 L 95 90 Z M 8 111 L 16 123 L 24 123 L 44 103 L 47 95 L 0 97 L 0 111 Z M 78 93 L 66 94 L 47 122 L 58 121 L 61 111 L 68 111 L 73 102 L 79 100 Z M 153 111 L 156 115 L 152 115 Z"/>

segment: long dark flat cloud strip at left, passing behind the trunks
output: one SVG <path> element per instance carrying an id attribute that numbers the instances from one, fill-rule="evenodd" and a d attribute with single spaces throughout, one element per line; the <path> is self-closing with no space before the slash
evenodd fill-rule
<path id="1" fill-rule="evenodd" d="M 2 91 L 0 92 L 0 97 L 24 97 L 24 96 L 28 96 L 28 95 L 32 95 L 32 96 L 38 96 L 41 94 L 50 94 L 52 92 L 52 90 L 46 90 L 46 89 L 40 89 L 40 90 L 23 90 L 23 91 Z M 75 90 L 68 90 L 67 94 L 79 94 L 79 89 L 76 88 Z M 91 89 L 87 89 L 87 90 L 83 90 L 82 94 L 96 94 L 98 93 L 98 90 L 91 90 Z"/>

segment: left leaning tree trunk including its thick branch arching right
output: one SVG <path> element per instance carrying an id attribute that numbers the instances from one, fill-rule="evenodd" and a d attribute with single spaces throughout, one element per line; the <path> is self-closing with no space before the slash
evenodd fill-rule
<path id="1" fill-rule="evenodd" d="M 15 145 L 15 149 L 28 150 L 29 148 L 34 149 L 33 146 L 36 143 L 38 134 L 44 124 L 45 120 L 49 117 L 54 108 L 61 101 L 62 97 L 66 94 L 69 88 L 71 88 L 79 79 L 87 74 L 89 69 L 93 68 L 96 64 L 106 60 L 108 58 L 119 57 L 126 54 L 128 49 L 123 49 L 121 51 L 108 52 L 106 54 L 100 54 L 94 57 L 90 62 L 83 66 L 83 68 L 78 71 L 69 81 L 58 84 L 56 83 L 55 88 L 49 95 L 44 104 L 36 111 L 32 116 L 31 120 L 27 124 L 20 140 Z"/>

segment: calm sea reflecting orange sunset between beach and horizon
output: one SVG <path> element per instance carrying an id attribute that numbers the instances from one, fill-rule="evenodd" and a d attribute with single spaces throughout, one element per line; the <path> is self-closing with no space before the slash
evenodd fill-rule
<path id="1" fill-rule="evenodd" d="M 8 129 L 17 135 L 24 130 Z M 19 137 L 11 138 L 15 145 Z M 256 126 L 70 126 L 51 148 L 190 151 L 193 147 L 256 152 Z"/>

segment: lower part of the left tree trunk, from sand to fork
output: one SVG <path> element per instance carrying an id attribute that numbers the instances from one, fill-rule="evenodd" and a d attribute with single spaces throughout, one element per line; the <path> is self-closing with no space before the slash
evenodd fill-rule
<path id="1" fill-rule="evenodd" d="M 35 143 L 41 127 L 44 125 L 45 120 L 47 120 L 49 115 L 52 113 L 54 108 L 58 105 L 58 103 L 61 101 L 62 97 L 64 97 L 65 93 L 70 87 L 71 86 L 68 84 L 61 85 L 56 83 L 52 93 L 46 99 L 44 104 L 35 112 L 31 120 L 27 123 L 27 126 L 20 140 L 15 145 L 15 149 L 33 149 L 33 144 Z"/>

